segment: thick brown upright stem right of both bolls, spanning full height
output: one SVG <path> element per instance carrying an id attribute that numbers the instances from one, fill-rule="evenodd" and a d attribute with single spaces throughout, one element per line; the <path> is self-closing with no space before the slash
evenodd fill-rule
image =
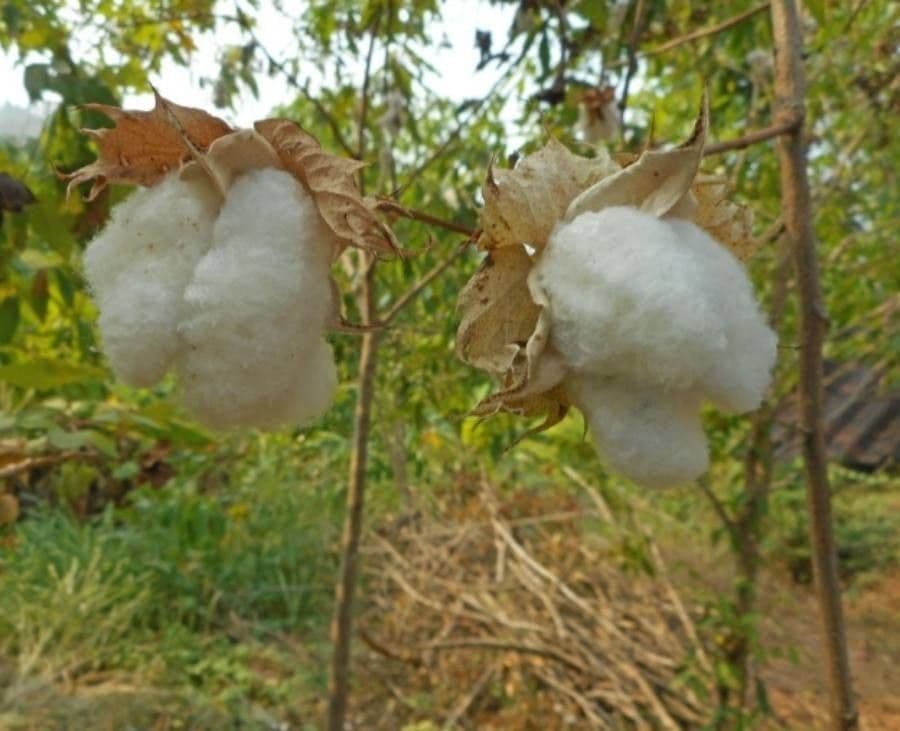
<path id="1" fill-rule="evenodd" d="M 802 125 L 806 80 L 796 2 L 774 0 L 771 16 L 775 52 L 775 121 L 796 119 L 801 122 L 790 134 L 779 138 L 778 158 L 784 222 L 790 237 L 800 301 L 803 460 L 810 516 L 810 546 L 830 690 L 830 728 L 832 731 L 856 731 L 859 717 L 850 677 L 826 470 L 822 398 L 822 341 L 826 316 L 819 286 L 806 170 L 807 151 Z"/>

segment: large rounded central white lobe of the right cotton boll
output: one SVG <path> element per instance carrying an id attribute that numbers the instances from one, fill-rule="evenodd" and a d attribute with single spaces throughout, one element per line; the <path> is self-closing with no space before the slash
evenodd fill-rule
<path id="1" fill-rule="evenodd" d="M 533 276 L 550 300 L 553 344 L 576 373 L 685 389 L 728 346 L 704 263 L 668 222 L 635 208 L 557 227 Z"/>

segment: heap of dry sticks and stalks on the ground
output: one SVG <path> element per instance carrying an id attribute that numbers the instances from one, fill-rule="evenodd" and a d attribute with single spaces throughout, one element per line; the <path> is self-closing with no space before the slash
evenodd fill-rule
<path id="1" fill-rule="evenodd" d="M 709 663 L 660 553 L 648 543 L 652 577 L 623 568 L 584 529 L 613 521 L 590 497 L 501 499 L 482 483 L 371 537 L 358 726 L 702 725 Z"/>

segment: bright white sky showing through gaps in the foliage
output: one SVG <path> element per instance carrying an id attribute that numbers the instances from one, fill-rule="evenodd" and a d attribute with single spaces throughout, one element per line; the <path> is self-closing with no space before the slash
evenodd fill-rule
<path id="1" fill-rule="evenodd" d="M 76 12 L 76 3 L 71 6 L 72 11 Z M 483 0 L 445 0 L 444 19 L 435 25 L 434 33 L 437 38 L 445 36 L 449 47 L 431 50 L 428 54 L 428 61 L 440 70 L 433 79 L 435 91 L 452 100 L 480 96 L 487 91 L 494 76 L 490 72 L 475 73 L 479 58 L 475 48 L 475 30 L 490 30 L 496 39 L 505 38 L 512 21 L 512 12 L 513 8 L 496 7 Z M 275 58 L 285 58 L 293 47 L 290 24 L 283 21 L 283 16 L 271 0 L 262 0 L 254 16 L 257 20 L 257 35 L 265 39 L 269 52 Z M 225 24 L 215 34 L 204 34 L 196 40 L 198 48 L 188 67 L 174 62 L 166 63 L 158 74 L 151 77 L 151 81 L 176 103 L 212 111 L 215 109 L 212 89 L 201 87 L 199 80 L 204 76 L 216 75 L 218 49 L 228 43 L 238 42 L 240 36 L 233 25 Z M 29 57 L 25 63 L 39 60 L 41 59 L 37 56 Z M 25 63 L 12 54 L 0 51 L 0 134 L 19 135 L 24 129 L 31 131 L 35 124 L 39 125 L 39 120 L 48 108 L 52 108 L 52 101 L 29 104 L 22 83 Z M 292 99 L 296 94 L 280 76 L 270 78 L 260 75 L 257 83 L 258 98 L 254 98 L 249 91 L 244 92 L 235 100 L 234 109 L 219 110 L 221 116 L 233 124 L 249 126 L 254 120 L 265 117 L 273 107 Z M 146 109 L 153 105 L 150 94 L 132 95 L 124 101 L 126 107 L 135 109 Z"/>

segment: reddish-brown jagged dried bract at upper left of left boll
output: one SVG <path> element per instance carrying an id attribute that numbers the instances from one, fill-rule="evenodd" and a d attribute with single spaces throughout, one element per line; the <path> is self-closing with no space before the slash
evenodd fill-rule
<path id="1" fill-rule="evenodd" d="M 101 112 L 115 122 L 111 129 L 84 130 L 97 142 L 97 159 L 65 176 L 69 191 L 94 181 L 88 200 L 96 198 L 107 183 L 153 185 L 190 159 L 190 145 L 205 151 L 214 140 L 231 132 L 221 119 L 201 109 L 173 104 L 159 94 L 149 112 L 106 104 L 85 104 L 84 108 Z M 172 117 L 181 129 L 173 125 Z"/>

